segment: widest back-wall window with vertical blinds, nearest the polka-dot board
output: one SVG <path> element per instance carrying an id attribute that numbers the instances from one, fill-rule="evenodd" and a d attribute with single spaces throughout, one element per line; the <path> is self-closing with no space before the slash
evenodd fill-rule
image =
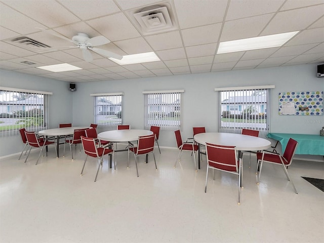
<path id="1" fill-rule="evenodd" d="M 219 131 L 240 133 L 245 128 L 259 130 L 265 136 L 272 88 L 269 85 L 215 89 L 219 93 Z"/>

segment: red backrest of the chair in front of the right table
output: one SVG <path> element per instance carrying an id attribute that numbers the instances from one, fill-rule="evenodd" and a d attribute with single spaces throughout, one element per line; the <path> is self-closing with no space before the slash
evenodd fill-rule
<path id="1" fill-rule="evenodd" d="M 206 143 L 207 161 L 214 168 L 237 172 L 238 163 L 236 154 L 236 148 L 234 146 Z"/>

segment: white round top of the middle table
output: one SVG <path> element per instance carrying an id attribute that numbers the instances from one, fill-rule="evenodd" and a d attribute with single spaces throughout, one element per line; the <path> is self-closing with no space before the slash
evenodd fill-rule
<path id="1" fill-rule="evenodd" d="M 113 130 L 102 132 L 98 134 L 98 138 L 104 141 L 110 142 L 129 142 L 137 141 L 139 136 L 146 136 L 153 134 L 149 130 L 139 130 L 139 129 L 130 129 L 130 130 Z"/>

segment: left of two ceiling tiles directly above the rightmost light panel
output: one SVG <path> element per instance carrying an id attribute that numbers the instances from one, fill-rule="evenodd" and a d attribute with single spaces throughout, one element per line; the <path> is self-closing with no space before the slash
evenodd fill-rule
<path id="1" fill-rule="evenodd" d="M 232 41 L 259 36 L 274 14 L 264 14 L 260 16 L 226 21 L 223 26 L 220 41 Z"/>

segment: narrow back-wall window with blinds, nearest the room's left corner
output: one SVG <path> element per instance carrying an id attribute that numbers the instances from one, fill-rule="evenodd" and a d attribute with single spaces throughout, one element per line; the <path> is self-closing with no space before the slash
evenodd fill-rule
<path id="1" fill-rule="evenodd" d="M 95 99 L 95 124 L 115 130 L 123 124 L 123 93 L 91 94 Z"/>

